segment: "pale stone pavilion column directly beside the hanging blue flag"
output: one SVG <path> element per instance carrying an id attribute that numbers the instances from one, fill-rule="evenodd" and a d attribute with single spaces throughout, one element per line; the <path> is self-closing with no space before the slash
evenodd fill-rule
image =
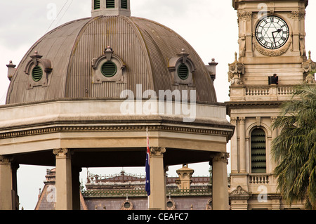
<path id="1" fill-rule="evenodd" d="M 150 148 L 150 197 L 149 209 L 166 210 L 166 183 L 164 173 L 165 148 Z"/>

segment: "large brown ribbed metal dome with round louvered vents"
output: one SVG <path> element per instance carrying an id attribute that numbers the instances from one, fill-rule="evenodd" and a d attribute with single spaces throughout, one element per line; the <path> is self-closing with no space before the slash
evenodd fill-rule
<path id="1" fill-rule="evenodd" d="M 157 22 L 126 15 L 99 13 L 53 29 L 9 79 L 6 104 L 119 99 L 124 90 L 139 92 L 140 85 L 142 93 L 157 95 L 195 90 L 197 102 L 216 103 L 209 71 L 185 39 Z"/>

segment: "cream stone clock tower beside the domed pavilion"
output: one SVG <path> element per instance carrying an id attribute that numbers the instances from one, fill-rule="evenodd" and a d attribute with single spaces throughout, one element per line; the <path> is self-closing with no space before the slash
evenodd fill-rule
<path id="1" fill-rule="evenodd" d="M 228 65 L 231 140 L 231 209 L 286 209 L 277 193 L 270 154 L 271 129 L 294 86 L 315 82 L 316 64 L 305 49 L 308 0 L 232 0 L 239 51 Z M 303 208 L 294 204 L 291 208 Z"/>

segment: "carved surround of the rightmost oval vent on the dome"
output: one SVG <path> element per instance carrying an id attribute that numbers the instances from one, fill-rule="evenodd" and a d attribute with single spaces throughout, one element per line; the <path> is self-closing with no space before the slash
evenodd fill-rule
<path id="1" fill-rule="evenodd" d="M 171 81 L 173 81 L 173 85 L 178 86 L 179 84 L 185 84 L 188 86 L 195 86 L 193 72 L 195 72 L 196 67 L 192 60 L 189 57 L 189 54 L 185 52 L 183 48 L 180 53 L 177 54 L 178 57 L 169 58 L 168 60 L 168 70 L 171 75 Z M 185 64 L 188 69 L 187 79 L 180 79 L 178 76 L 178 67 L 182 64 Z"/>

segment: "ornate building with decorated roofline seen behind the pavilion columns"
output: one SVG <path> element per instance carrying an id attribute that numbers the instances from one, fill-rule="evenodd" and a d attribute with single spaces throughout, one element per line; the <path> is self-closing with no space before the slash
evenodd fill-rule
<path id="1" fill-rule="evenodd" d="M 167 210 L 211 210 L 211 177 L 192 177 L 187 164 L 177 170 L 178 177 L 166 176 Z M 228 179 L 229 180 L 229 179 Z M 55 169 L 47 170 L 44 187 L 35 210 L 55 209 Z M 147 210 L 145 175 L 121 171 L 114 175 L 96 175 L 87 170 L 81 183 L 81 210 Z"/>

